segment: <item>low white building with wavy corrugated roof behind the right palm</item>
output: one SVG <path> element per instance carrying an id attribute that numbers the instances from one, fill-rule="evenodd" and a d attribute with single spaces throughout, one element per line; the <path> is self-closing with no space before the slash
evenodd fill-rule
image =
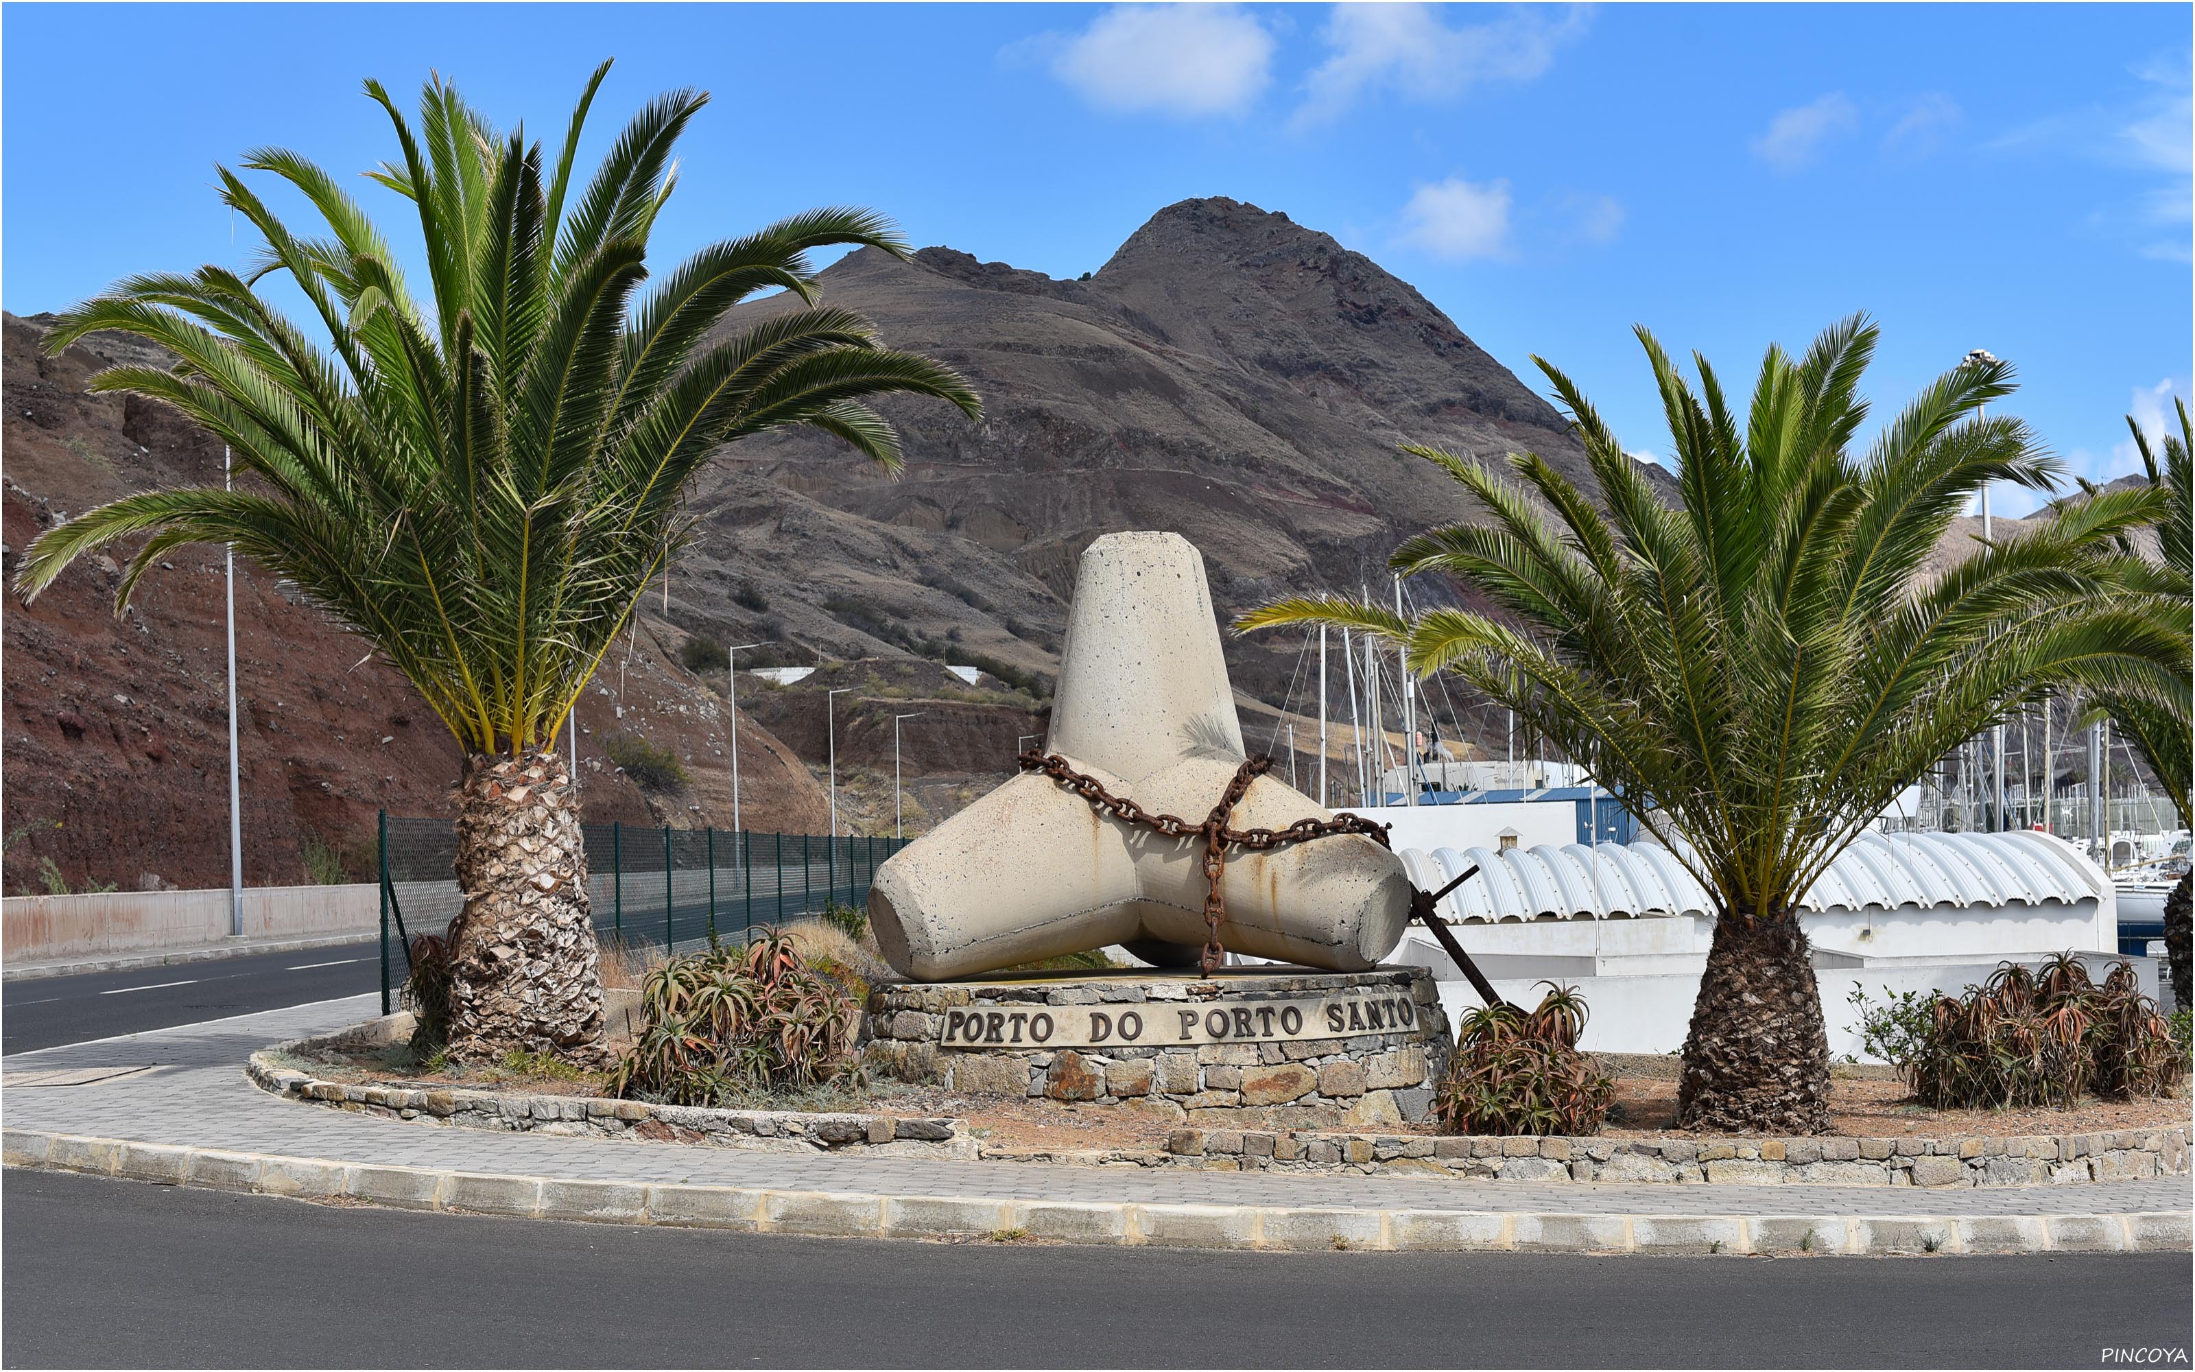
<path id="1" fill-rule="evenodd" d="M 1394 847 L 1411 882 L 1427 891 L 1479 869 L 1442 898 L 1440 913 L 1504 999 L 1530 1008 L 1539 981 L 1561 981 L 1583 990 L 1591 1010 L 1583 1047 L 1684 1047 L 1714 902 L 1670 850 L 1653 841 L 1530 839 L 1506 850 L 1499 841 Z M 1866 1056 L 1848 1003 L 1855 988 L 1881 1003 L 1899 990 L 1958 994 L 2004 959 L 2033 964 L 2070 948 L 2098 979 L 2118 959 L 2112 882 L 2050 834 L 1870 832 L 1837 856 L 1800 909 L 1837 1058 Z M 1477 1005 L 1422 929 L 1405 935 L 1389 961 L 1433 968 L 1451 1016 Z M 2155 961 L 2134 964 L 2142 990 L 2155 994 Z"/>

